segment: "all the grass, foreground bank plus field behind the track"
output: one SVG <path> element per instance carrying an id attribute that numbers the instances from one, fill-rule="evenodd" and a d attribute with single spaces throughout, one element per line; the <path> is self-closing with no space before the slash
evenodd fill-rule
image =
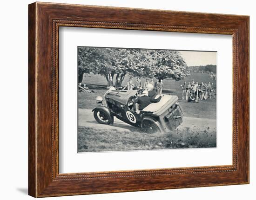
<path id="1" fill-rule="evenodd" d="M 104 81 L 104 77 L 96 75 L 94 80 Z M 216 119 L 216 98 L 188 103 L 181 100 L 183 81 L 209 82 L 208 74 L 191 73 L 191 76 L 182 81 L 164 80 L 164 88 L 172 89 L 171 95 L 179 97 L 179 103 L 185 116 L 203 119 Z M 142 83 L 144 80 L 142 79 Z M 214 82 L 216 88 L 216 81 Z M 79 109 L 92 109 L 95 106 L 95 98 L 103 97 L 106 90 L 92 89 L 94 93 L 79 93 Z M 120 151 L 120 150 L 145 150 L 166 148 L 209 148 L 216 147 L 216 128 L 198 129 L 191 125 L 182 130 L 171 133 L 147 134 L 138 131 L 102 130 L 88 127 L 78 128 L 79 152 L 94 151 Z"/>

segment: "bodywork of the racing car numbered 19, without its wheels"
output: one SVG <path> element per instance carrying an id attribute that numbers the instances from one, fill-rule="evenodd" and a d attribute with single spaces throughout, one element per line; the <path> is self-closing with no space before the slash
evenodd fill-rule
<path id="1" fill-rule="evenodd" d="M 137 114 L 133 110 L 132 101 L 136 98 L 137 90 L 111 90 L 104 95 L 106 109 L 121 121 L 135 127 L 141 127 L 145 117 L 160 123 L 165 132 L 176 129 L 182 123 L 182 110 L 178 104 L 178 97 L 163 95 L 158 103 L 151 103 Z M 98 106 L 102 108 L 102 105 Z M 97 109 L 98 107 L 95 107 Z"/>

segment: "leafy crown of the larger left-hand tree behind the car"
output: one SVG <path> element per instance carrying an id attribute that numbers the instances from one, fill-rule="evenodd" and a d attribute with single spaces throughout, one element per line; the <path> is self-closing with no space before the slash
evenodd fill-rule
<path id="1" fill-rule="evenodd" d="M 152 70 L 149 66 L 150 59 L 146 52 L 140 49 L 114 49 L 97 47 L 78 48 L 78 71 L 79 75 L 94 73 L 109 77 L 121 78 L 125 75 L 150 76 Z"/>

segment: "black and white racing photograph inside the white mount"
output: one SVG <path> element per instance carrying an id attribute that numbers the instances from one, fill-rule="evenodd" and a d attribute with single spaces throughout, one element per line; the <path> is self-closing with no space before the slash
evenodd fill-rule
<path id="1" fill-rule="evenodd" d="M 78 152 L 216 148 L 217 52 L 78 46 Z"/>

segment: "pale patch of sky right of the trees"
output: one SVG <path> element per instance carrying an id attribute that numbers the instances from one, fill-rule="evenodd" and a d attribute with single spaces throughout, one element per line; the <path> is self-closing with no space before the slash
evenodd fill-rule
<path id="1" fill-rule="evenodd" d="M 216 65 L 217 52 L 179 51 L 188 66 Z"/>

